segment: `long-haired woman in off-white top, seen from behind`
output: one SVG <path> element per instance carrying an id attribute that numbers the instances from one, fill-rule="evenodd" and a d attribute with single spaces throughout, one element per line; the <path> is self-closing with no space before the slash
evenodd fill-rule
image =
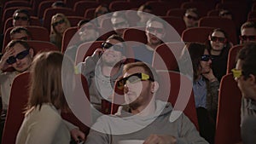
<path id="1" fill-rule="evenodd" d="M 61 73 L 63 59 L 61 52 L 47 52 L 33 60 L 28 107 L 16 144 L 69 144 L 70 131 L 60 112 L 69 111 L 64 91 L 65 95 L 70 93 L 62 89 L 61 77 L 66 78 L 64 81 L 73 80 L 73 64 L 65 59 L 67 71 Z"/>

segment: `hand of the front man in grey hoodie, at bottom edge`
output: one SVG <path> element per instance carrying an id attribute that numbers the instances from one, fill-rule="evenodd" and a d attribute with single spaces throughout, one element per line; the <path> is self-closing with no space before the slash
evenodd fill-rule
<path id="1" fill-rule="evenodd" d="M 143 144 L 175 144 L 176 138 L 172 135 L 149 135 Z"/>

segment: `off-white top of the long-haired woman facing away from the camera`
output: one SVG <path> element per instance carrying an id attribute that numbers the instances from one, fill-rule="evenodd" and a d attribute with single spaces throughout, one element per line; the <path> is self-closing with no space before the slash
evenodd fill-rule
<path id="1" fill-rule="evenodd" d="M 43 104 L 26 114 L 16 144 L 69 144 L 70 133 L 55 107 Z"/>

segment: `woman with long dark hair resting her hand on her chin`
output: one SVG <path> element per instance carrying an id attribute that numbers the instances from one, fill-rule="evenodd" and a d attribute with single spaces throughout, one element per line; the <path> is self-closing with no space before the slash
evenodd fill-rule
<path id="1" fill-rule="evenodd" d="M 190 67 L 185 67 L 192 63 L 193 92 L 195 95 L 195 108 L 197 112 L 199 131 L 209 143 L 214 143 L 215 121 L 218 111 L 218 79 L 212 72 L 212 57 L 210 50 L 203 43 L 187 43 L 185 48 L 189 55 L 183 55 L 183 72 L 191 73 Z M 185 53 L 184 53 L 185 54 Z M 191 60 L 191 61 L 190 61 Z"/>

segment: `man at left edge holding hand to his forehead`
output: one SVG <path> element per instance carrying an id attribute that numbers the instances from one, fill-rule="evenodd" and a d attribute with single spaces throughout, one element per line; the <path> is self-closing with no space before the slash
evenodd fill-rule
<path id="1" fill-rule="evenodd" d="M 3 105 L 0 130 L 3 130 L 3 124 L 9 107 L 9 95 L 13 80 L 17 74 L 26 72 L 29 69 L 32 63 L 32 57 L 33 49 L 29 49 L 29 45 L 21 40 L 11 41 L 4 49 L 2 59 L 0 60 L 0 92 Z M 3 72 L 11 67 L 15 71 Z"/>

